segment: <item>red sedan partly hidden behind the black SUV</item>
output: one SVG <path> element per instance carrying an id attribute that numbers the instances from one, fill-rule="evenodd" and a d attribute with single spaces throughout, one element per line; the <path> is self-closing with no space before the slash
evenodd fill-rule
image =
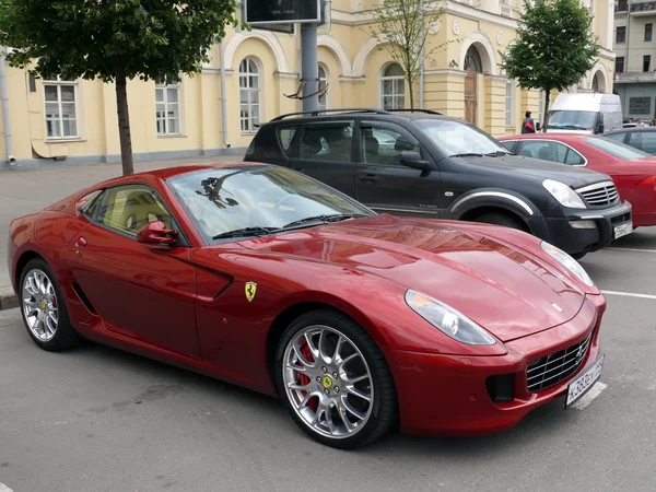
<path id="1" fill-rule="evenodd" d="M 633 206 L 633 225 L 656 225 L 656 155 L 590 134 L 529 133 L 499 140 L 518 155 L 584 166 L 609 175 L 622 201 Z"/>

